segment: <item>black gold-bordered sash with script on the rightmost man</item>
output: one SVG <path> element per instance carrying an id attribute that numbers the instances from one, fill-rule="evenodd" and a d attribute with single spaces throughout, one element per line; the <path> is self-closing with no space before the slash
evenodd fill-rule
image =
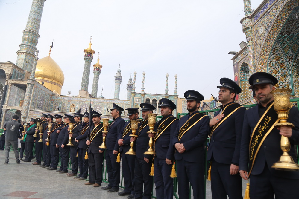
<path id="1" fill-rule="evenodd" d="M 262 117 L 259 119 L 259 122 L 254 127 L 252 131 L 250 144 L 249 144 L 249 164 L 248 164 L 248 177 L 251 173 L 251 170 L 254 165 L 256 155 L 259 151 L 259 148 L 262 146 L 267 135 L 272 131 L 274 125 L 279 121 L 277 112 L 274 110 L 274 103 L 272 103 Z"/>

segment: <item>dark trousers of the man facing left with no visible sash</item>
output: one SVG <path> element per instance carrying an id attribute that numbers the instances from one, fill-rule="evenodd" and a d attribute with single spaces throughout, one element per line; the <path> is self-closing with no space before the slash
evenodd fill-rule
<path id="1" fill-rule="evenodd" d="M 106 168 L 108 173 L 109 186 L 119 189 L 120 181 L 120 163 L 116 162 L 118 154 L 113 154 L 113 150 L 106 149 Z"/>

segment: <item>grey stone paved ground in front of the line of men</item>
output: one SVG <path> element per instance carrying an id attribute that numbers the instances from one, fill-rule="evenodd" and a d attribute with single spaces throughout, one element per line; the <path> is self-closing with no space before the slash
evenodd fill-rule
<path id="1" fill-rule="evenodd" d="M 0 151 L 0 198 L 127 198 L 127 196 L 118 196 L 117 192 L 109 193 L 101 187 L 84 185 L 86 181 L 75 180 L 66 174 L 32 165 L 33 161 L 21 161 L 20 164 L 16 164 L 12 151 L 10 151 L 8 165 L 5 165 L 4 161 L 5 151 Z M 102 183 L 102 186 L 107 186 L 107 184 Z M 243 182 L 243 190 L 245 188 L 246 182 Z M 207 182 L 206 198 L 212 198 L 210 182 Z"/>

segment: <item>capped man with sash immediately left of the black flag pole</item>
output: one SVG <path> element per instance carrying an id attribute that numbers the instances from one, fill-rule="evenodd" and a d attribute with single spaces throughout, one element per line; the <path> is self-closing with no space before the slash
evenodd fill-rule
<path id="1" fill-rule="evenodd" d="M 77 180 L 85 180 L 88 176 L 88 159 L 84 159 L 85 152 L 87 149 L 86 138 L 89 133 L 89 113 L 84 113 L 84 124 L 81 126 L 80 135 L 75 138 L 75 141 L 78 143 L 77 153 L 78 153 L 78 166 L 80 170 L 80 174 L 74 179 Z"/>

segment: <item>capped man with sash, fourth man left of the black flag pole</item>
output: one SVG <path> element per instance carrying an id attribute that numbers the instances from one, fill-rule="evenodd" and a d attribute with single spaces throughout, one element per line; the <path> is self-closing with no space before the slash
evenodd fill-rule
<path id="1" fill-rule="evenodd" d="M 53 117 L 52 115 L 48 114 L 48 116 Z M 58 162 L 59 162 L 59 148 L 57 146 L 57 138 L 58 138 L 58 133 L 60 132 L 61 128 L 64 126 L 64 123 L 62 122 L 62 116 L 61 115 L 54 115 L 55 120 L 56 120 L 56 125 L 52 125 L 52 130 L 50 132 L 49 136 L 49 142 L 50 142 L 50 155 L 51 155 L 51 167 L 48 168 L 49 171 L 56 171 Z M 59 171 L 59 170 L 57 170 Z M 60 170 L 62 171 L 62 170 Z"/>

